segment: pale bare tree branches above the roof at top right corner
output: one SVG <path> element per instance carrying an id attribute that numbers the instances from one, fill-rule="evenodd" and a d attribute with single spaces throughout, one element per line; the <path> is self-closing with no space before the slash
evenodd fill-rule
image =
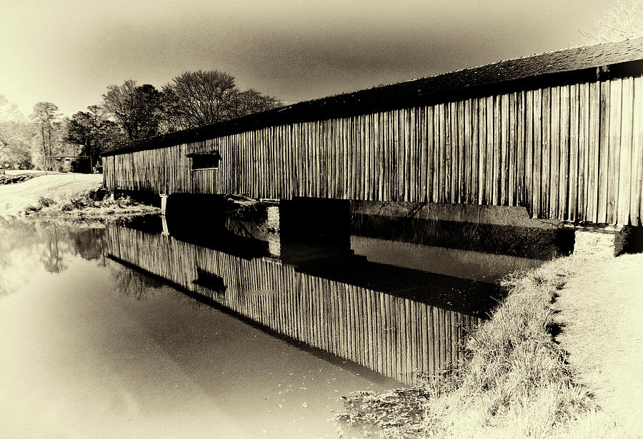
<path id="1" fill-rule="evenodd" d="M 603 11 L 601 19 L 594 20 L 592 29 L 577 29 L 590 42 L 607 43 L 643 36 L 643 2 L 641 0 L 617 1 Z"/>

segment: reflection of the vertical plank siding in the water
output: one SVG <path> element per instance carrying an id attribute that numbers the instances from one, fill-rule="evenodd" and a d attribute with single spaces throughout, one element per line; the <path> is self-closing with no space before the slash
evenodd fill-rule
<path id="1" fill-rule="evenodd" d="M 479 318 L 379 291 L 251 261 L 128 228 L 109 228 L 109 253 L 179 284 L 278 333 L 403 383 L 414 370 L 437 374 L 462 360 Z M 196 267 L 224 278 L 225 293 L 193 283 Z M 245 295 L 244 291 L 272 294 Z"/>

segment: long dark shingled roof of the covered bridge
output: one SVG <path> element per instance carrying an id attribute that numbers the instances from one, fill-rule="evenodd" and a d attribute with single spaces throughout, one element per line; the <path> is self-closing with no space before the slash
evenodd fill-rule
<path id="1" fill-rule="evenodd" d="M 357 116 L 544 86 L 638 76 L 642 73 L 643 38 L 574 47 L 303 101 L 231 121 L 144 138 L 104 155 L 196 142 L 266 126 Z"/>

